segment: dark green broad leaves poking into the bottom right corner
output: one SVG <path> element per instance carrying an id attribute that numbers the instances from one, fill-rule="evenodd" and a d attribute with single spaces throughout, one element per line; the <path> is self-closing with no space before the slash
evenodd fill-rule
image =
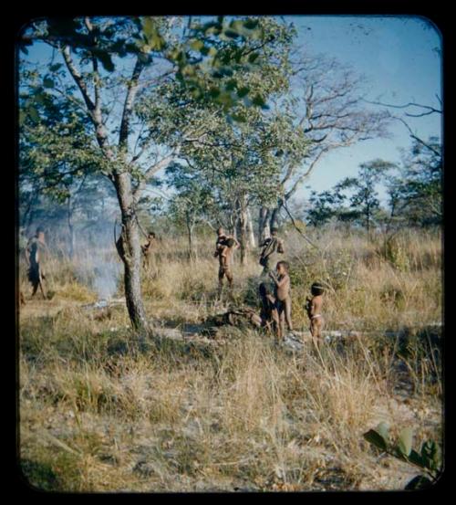
<path id="1" fill-rule="evenodd" d="M 412 449 L 413 430 L 410 427 L 402 429 L 396 443 L 391 443 L 389 426 L 380 423 L 376 429 L 369 429 L 364 434 L 368 443 L 378 447 L 382 452 L 421 468 L 423 474 L 411 479 L 405 489 L 424 489 L 436 482 L 442 472 L 441 450 L 434 440 L 422 442 L 420 453 Z"/>

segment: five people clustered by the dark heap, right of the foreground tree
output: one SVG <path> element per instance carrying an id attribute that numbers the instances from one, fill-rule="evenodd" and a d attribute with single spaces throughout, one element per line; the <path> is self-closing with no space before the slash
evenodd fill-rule
<path id="1" fill-rule="evenodd" d="M 275 262 L 278 254 L 284 254 L 284 241 L 277 237 L 277 228 L 271 229 L 271 237 L 261 244 L 259 264 L 263 267 L 258 292 L 261 300 L 260 316 L 253 316 L 251 321 L 258 327 L 263 327 L 275 333 L 278 340 L 285 335 L 285 323 L 288 331 L 293 331 L 291 318 L 291 280 L 290 265 L 287 261 Z M 240 247 L 235 237 L 226 235 L 223 228 L 217 229 L 214 257 L 219 258 L 219 289 L 221 297 L 223 279 L 227 279 L 230 292 L 233 289 L 233 271 L 231 258 L 233 251 Z M 322 338 L 323 287 L 315 282 L 311 286 L 312 297 L 306 298 L 305 310 L 310 320 L 310 332 L 314 343 L 318 346 Z"/>

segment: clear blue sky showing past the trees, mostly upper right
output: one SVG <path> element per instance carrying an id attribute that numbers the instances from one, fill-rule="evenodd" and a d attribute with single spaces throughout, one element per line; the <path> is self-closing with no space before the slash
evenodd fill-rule
<path id="1" fill-rule="evenodd" d="M 282 16 L 298 32 L 297 43 L 310 54 L 337 58 L 367 78 L 368 100 L 402 105 L 410 101 L 440 108 L 441 41 L 438 29 L 419 16 Z M 30 49 L 28 60 L 47 62 L 44 45 Z M 399 110 L 391 110 L 399 112 Z M 422 110 L 409 110 L 412 112 Z M 421 138 L 440 136 L 440 114 L 407 118 Z M 399 163 L 400 149 L 409 149 L 409 132 L 399 121 L 390 128 L 390 139 L 376 139 L 326 154 L 296 194 L 307 199 L 312 190 L 332 188 L 338 181 L 358 173 L 360 163 L 376 158 Z M 386 193 L 380 188 L 380 199 Z"/>

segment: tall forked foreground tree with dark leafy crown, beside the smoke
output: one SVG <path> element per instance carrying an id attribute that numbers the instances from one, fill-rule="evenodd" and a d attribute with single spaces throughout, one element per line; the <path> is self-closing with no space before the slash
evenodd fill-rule
<path id="1" fill-rule="evenodd" d="M 250 97 L 250 89 L 233 93 L 220 81 L 233 74 L 233 68 L 252 67 L 271 39 L 258 27 L 261 23 L 250 18 L 184 21 L 148 16 L 47 18 L 26 27 L 21 37 L 25 52 L 36 41 L 53 47 L 58 61 L 47 66 L 42 86 L 78 105 L 90 123 L 92 142 L 86 149 L 97 157 L 98 172 L 116 191 L 127 308 L 133 327 L 140 331 L 148 322 L 140 292 L 136 205 L 144 184 L 170 163 L 179 146 L 172 145 L 160 157 L 160 150 L 144 142 L 144 123 L 135 114 L 138 93 L 176 79 L 188 97 L 214 100 L 229 112 L 233 104 Z M 261 106 L 264 99 L 254 95 L 251 104 Z M 46 128 L 47 118 L 34 105 L 29 100 L 24 111 Z"/>

